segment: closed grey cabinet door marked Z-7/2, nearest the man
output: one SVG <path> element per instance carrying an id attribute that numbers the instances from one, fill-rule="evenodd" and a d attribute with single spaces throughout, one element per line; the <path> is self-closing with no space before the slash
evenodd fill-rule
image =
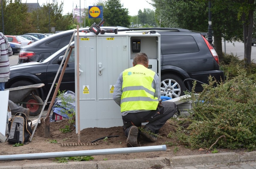
<path id="1" fill-rule="evenodd" d="M 109 37 L 97 36 L 98 100 L 112 100 L 113 94 L 110 92 L 109 86 L 114 85 L 119 74 L 128 68 L 128 37 L 116 36 L 113 40 L 107 40 Z M 99 63 L 104 67 L 101 75 L 99 74 Z"/>

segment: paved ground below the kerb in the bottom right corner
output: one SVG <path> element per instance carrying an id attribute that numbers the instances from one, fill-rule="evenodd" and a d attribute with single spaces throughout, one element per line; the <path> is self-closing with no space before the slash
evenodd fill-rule
<path id="1" fill-rule="evenodd" d="M 185 167 L 172 167 L 173 169 L 256 169 L 256 161 L 249 162 L 235 162 L 227 164 L 202 164 Z M 168 169 L 168 168 L 165 168 Z"/>

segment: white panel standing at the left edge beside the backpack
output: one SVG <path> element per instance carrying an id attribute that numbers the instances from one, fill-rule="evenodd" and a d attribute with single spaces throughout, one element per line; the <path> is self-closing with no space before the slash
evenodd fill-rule
<path id="1" fill-rule="evenodd" d="M 9 90 L 0 91 L 0 132 L 5 135 Z"/>

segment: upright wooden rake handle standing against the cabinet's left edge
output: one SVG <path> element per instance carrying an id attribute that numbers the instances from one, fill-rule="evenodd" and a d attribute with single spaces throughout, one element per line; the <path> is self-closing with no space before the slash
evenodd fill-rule
<path id="1" fill-rule="evenodd" d="M 79 98 L 80 98 L 80 88 L 79 88 L 79 25 L 77 25 L 77 68 L 76 68 L 76 72 L 77 72 L 77 91 L 76 91 L 76 97 L 77 97 L 77 130 L 78 130 L 78 134 L 77 134 L 77 139 L 78 139 L 78 143 L 80 143 L 80 104 L 79 104 Z"/>

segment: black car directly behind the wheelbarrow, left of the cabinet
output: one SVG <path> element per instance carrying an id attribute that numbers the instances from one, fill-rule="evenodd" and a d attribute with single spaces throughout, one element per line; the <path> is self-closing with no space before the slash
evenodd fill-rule
<path id="1" fill-rule="evenodd" d="M 72 42 L 71 45 L 74 45 Z M 44 86 L 37 89 L 38 96 L 44 101 L 50 91 L 53 80 L 59 69 L 61 60 L 68 45 L 55 52 L 50 57 L 41 62 L 29 62 L 10 66 L 10 79 L 5 83 L 5 88 L 28 86 L 32 84 L 44 83 Z M 56 82 L 58 78 L 56 79 Z M 75 48 L 69 59 L 68 66 L 60 84 L 61 91 L 70 90 L 75 92 Z M 50 97 L 53 96 L 54 89 Z"/>

